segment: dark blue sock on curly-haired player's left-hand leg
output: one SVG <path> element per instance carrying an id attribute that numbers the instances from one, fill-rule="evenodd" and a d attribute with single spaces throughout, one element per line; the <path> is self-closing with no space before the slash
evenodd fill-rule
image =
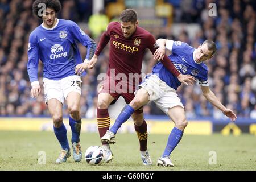
<path id="1" fill-rule="evenodd" d="M 60 142 L 61 148 L 65 150 L 68 148 L 68 151 L 70 150 L 69 144 L 68 144 L 68 138 L 67 138 L 67 130 L 64 124 L 62 124 L 59 128 L 53 126 L 54 133 L 57 137 L 57 139 Z"/>

